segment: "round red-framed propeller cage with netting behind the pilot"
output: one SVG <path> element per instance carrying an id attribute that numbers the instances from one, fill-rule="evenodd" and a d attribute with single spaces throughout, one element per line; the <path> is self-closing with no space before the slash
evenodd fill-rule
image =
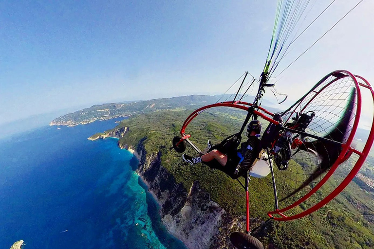
<path id="1" fill-rule="evenodd" d="M 279 208 L 268 212 L 276 220 L 292 220 L 313 213 L 337 196 L 355 177 L 365 161 L 374 139 L 373 120 L 362 150 L 356 147 L 355 133 L 362 111 L 362 91 L 369 92 L 371 107 L 374 91 L 369 82 L 349 71 L 334 71 L 322 78 L 299 101 L 281 113 L 283 126 L 292 124 L 300 113 L 313 113 L 303 134 L 295 133 L 287 170 L 275 170 Z M 295 123 L 295 122 L 294 122 Z M 355 161 L 333 190 L 318 190 L 338 166 L 355 154 Z M 325 193 L 328 191 L 329 193 Z M 316 196 L 318 198 L 311 198 Z M 300 208 L 299 205 L 307 203 Z M 307 207 L 307 208 L 305 208 Z"/>

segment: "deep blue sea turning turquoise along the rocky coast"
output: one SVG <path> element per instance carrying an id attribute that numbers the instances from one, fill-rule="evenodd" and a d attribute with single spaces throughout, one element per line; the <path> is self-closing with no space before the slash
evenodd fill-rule
<path id="1" fill-rule="evenodd" d="M 0 140 L 0 248 L 186 249 L 117 139 L 115 121 L 45 126 Z"/>

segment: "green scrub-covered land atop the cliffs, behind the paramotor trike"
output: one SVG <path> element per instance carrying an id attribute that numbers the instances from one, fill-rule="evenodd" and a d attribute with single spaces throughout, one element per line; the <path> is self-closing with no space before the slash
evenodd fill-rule
<path id="1" fill-rule="evenodd" d="M 162 165 L 173 174 L 177 182 L 183 183 L 186 189 L 190 188 L 193 181 L 198 180 L 201 186 L 210 193 L 212 200 L 228 213 L 245 215 L 245 193 L 237 181 L 202 164 L 186 166 L 182 162 L 181 154 L 169 150 L 172 138 L 179 134 L 189 114 L 190 110 L 172 112 L 160 110 L 134 115 L 117 126 L 117 128 L 130 127 L 130 131 L 119 140 L 119 143 L 136 146 L 142 141 L 147 153 L 155 154 L 161 151 Z M 209 110 L 194 119 L 186 133 L 192 135 L 191 140 L 195 144 L 204 148 L 208 139 L 213 143 L 218 143 L 226 136 L 239 131 L 244 117 L 245 112 L 241 111 L 225 108 Z M 264 123 L 263 126 L 265 127 L 266 124 Z M 187 146 L 186 153 L 196 154 L 189 146 Z M 330 194 L 347 175 L 347 171 L 352 168 L 352 163 L 353 159 L 350 159 L 339 167 L 333 178 L 329 179 L 310 200 L 287 214 L 306 210 Z M 298 164 L 295 162 L 294 165 Z M 366 168 L 370 168 L 369 165 Z M 373 170 L 373 167 L 367 170 Z M 287 187 L 287 183 L 277 178 L 277 186 L 281 190 Z M 270 176 L 262 179 L 252 178 L 249 196 L 251 217 L 266 220 L 267 212 L 274 209 Z M 374 248 L 373 222 L 373 194 L 362 190 L 355 182 L 351 182 L 339 196 L 318 212 L 295 221 L 271 220 L 262 229 L 256 231 L 255 236 L 259 237 L 265 245 L 274 245 L 279 249 L 369 249 Z"/>

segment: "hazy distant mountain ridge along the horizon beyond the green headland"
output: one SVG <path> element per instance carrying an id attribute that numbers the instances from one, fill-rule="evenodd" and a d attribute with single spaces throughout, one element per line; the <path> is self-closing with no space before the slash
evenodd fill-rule
<path id="1" fill-rule="evenodd" d="M 164 99 L 152 99 L 146 101 L 133 101 L 130 103 L 111 103 L 103 105 L 94 105 L 73 113 L 60 116 L 53 120 L 50 125 L 68 125 L 88 124 L 96 120 L 106 120 L 118 117 L 127 117 L 139 113 L 148 113 L 160 110 L 186 110 L 196 109 L 198 107 L 214 104 L 217 101 L 223 102 L 232 100 L 234 95 L 190 95 Z M 245 98 L 247 102 L 253 102 L 254 97 Z M 263 102 L 273 105 L 271 102 Z M 276 108 L 269 108 L 270 111 L 279 111 Z"/>

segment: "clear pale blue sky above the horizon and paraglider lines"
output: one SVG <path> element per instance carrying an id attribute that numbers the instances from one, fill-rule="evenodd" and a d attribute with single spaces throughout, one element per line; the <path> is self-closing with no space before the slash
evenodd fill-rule
<path id="1" fill-rule="evenodd" d="M 318 0 L 304 23 L 331 1 Z M 336 0 L 280 68 L 358 1 Z M 108 102 L 222 94 L 245 71 L 260 76 L 276 7 L 276 0 L 0 1 L 0 125 Z M 277 77 L 278 91 L 297 100 L 337 69 L 373 80 L 373 9 L 364 0 Z"/>

